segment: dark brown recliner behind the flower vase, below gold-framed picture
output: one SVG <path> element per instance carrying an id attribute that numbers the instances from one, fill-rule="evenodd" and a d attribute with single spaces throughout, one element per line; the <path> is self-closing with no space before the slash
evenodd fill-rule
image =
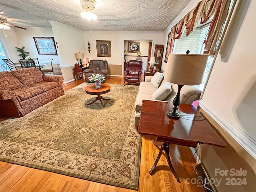
<path id="1" fill-rule="evenodd" d="M 102 74 L 105 76 L 104 83 L 108 77 L 108 62 L 103 60 L 90 60 L 89 68 L 84 70 L 85 82 L 90 82 L 89 77 L 92 74 Z"/>

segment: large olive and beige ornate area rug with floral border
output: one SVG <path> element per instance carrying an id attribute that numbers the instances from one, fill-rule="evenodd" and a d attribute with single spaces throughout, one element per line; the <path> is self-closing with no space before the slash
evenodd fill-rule
<path id="1" fill-rule="evenodd" d="M 110 84 L 106 104 L 83 83 L 22 118 L 1 122 L 0 160 L 138 190 L 138 86 Z"/>

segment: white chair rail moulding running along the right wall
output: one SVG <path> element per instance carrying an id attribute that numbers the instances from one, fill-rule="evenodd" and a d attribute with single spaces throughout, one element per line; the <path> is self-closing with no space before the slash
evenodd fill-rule
<path id="1" fill-rule="evenodd" d="M 199 101 L 199 106 L 204 110 L 214 121 L 216 121 L 236 142 L 238 142 L 254 159 L 256 159 L 256 141 L 248 134 L 243 132 L 238 126 L 233 124 L 220 112 L 215 110 L 210 104 L 203 99 Z"/>

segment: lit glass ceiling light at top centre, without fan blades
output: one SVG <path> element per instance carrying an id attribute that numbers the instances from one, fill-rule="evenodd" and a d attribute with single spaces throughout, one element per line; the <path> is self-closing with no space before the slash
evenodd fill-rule
<path id="1" fill-rule="evenodd" d="M 92 10 L 95 8 L 95 0 L 80 0 L 80 4 L 84 12 L 81 13 L 81 17 L 90 21 L 91 19 L 96 20 L 97 16 L 92 13 Z"/>

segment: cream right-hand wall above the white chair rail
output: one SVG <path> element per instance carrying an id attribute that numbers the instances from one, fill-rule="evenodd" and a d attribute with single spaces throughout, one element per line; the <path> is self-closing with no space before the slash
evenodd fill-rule
<path id="1" fill-rule="evenodd" d="M 256 1 L 245 2 L 250 6 L 231 20 L 202 100 L 256 141 Z"/>

